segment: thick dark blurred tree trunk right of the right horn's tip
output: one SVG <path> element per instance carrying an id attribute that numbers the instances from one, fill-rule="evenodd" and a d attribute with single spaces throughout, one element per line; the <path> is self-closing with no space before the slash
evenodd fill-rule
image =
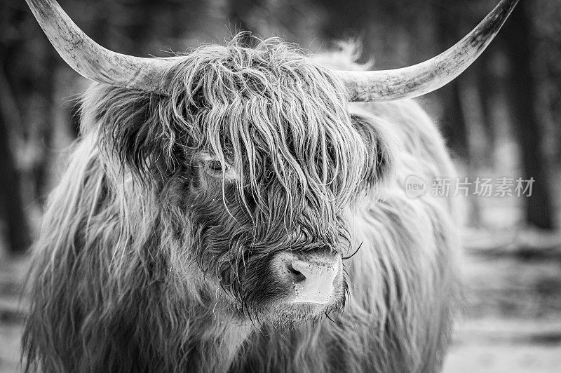
<path id="1" fill-rule="evenodd" d="M 520 1 L 507 21 L 502 36 L 511 67 L 508 100 L 522 156 L 522 178 L 533 177 L 532 196 L 526 200 L 525 219 L 539 228 L 553 229 L 550 178 L 542 154 L 542 128 L 537 112 L 537 86 L 532 74 L 533 29 L 529 2 Z"/>

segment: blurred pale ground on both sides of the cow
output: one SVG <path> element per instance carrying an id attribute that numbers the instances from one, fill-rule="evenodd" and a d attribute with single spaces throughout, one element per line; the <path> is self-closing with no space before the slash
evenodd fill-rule
<path id="1" fill-rule="evenodd" d="M 561 236 L 467 231 L 466 309 L 444 372 L 561 372 Z M 28 258 L 0 258 L 0 373 L 18 372 Z"/>

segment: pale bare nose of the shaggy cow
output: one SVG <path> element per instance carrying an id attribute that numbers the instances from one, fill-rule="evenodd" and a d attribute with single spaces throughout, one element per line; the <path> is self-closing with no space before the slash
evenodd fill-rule
<path id="1" fill-rule="evenodd" d="M 296 255 L 283 252 L 275 258 L 280 278 L 291 285 L 293 303 L 327 304 L 339 273 L 339 256 L 330 254 Z"/>

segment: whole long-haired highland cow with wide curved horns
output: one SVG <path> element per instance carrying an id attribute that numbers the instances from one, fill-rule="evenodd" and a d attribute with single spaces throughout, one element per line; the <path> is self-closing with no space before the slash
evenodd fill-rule
<path id="1" fill-rule="evenodd" d="M 440 369 L 456 208 L 404 184 L 454 169 L 416 103 L 379 101 L 454 79 L 515 3 L 433 60 L 364 72 L 277 39 L 119 55 L 28 0 L 97 83 L 35 247 L 27 370 Z"/>

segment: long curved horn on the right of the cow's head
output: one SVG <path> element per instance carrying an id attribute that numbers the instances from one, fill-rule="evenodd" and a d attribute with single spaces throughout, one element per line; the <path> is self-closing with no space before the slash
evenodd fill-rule
<path id="1" fill-rule="evenodd" d="M 391 101 L 417 97 L 450 83 L 487 48 L 518 0 L 501 0 L 482 22 L 452 48 L 410 67 L 372 72 L 338 71 L 351 101 Z"/>

